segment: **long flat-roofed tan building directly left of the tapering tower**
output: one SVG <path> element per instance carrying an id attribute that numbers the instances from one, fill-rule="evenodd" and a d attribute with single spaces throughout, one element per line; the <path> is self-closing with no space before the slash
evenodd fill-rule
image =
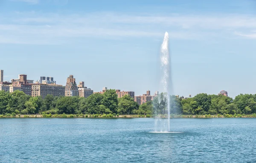
<path id="1" fill-rule="evenodd" d="M 65 86 L 57 84 L 32 84 L 32 97 L 41 96 L 45 98 L 47 94 L 53 96 L 65 96 Z"/>

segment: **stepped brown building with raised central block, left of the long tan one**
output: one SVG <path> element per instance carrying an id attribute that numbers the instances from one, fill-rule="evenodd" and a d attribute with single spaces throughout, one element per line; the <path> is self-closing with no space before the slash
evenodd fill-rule
<path id="1" fill-rule="evenodd" d="M 19 79 L 12 79 L 12 85 L 10 85 L 10 92 L 20 90 L 26 95 L 31 96 L 31 84 L 27 81 L 27 75 L 20 74 Z"/>

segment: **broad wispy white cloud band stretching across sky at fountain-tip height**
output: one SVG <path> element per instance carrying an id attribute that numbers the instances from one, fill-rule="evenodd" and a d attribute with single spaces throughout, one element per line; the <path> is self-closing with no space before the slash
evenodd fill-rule
<path id="1" fill-rule="evenodd" d="M 242 34 L 255 30 L 256 19 L 252 15 L 138 16 L 119 13 L 64 15 L 18 12 L 15 18 L 0 18 L 0 22 L 0 43 L 55 44 L 68 41 L 64 37 L 159 39 L 165 31 L 169 31 L 171 39 L 256 38 L 255 33 Z"/>

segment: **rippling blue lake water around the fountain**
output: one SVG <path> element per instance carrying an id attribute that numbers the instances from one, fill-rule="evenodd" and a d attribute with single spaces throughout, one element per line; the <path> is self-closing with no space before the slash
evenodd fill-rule
<path id="1" fill-rule="evenodd" d="M 256 162 L 255 118 L 0 119 L 0 163 Z"/>

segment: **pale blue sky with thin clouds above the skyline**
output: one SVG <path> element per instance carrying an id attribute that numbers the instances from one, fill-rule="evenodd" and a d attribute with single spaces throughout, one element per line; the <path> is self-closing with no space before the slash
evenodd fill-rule
<path id="1" fill-rule="evenodd" d="M 0 0 L 0 69 L 153 94 L 166 31 L 174 94 L 256 94 L 256 0 Z"/>

